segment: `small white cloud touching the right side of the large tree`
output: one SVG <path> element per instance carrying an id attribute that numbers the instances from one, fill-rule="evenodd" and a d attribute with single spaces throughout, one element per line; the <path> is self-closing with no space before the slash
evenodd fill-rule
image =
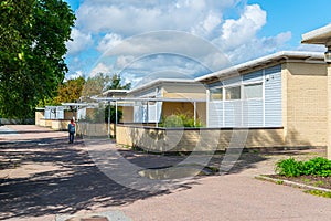
<path id="1" fill-rule="evenodd" d="M 72 30 L 71 38 L 73 41 L 66 42 L 68 49 L 67 54 L 75 55 L 79 52 L 86 50 L 88 46 L 93 45 L 93 39 L 90 34 L 83 33 L 78 29 L 74 28 Z"/>

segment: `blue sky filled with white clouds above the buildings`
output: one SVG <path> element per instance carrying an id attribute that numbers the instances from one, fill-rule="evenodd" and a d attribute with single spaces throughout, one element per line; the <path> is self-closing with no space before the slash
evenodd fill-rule
<path id="1" fill-rule="evenodd" d="M 331 21 L 327 0 L 66 1 L 77 18 L 66 78 L 119 73 L 132 84 L 193 78 L 277 51 L 324 51 L 301 45 L 301 34 Z"/>

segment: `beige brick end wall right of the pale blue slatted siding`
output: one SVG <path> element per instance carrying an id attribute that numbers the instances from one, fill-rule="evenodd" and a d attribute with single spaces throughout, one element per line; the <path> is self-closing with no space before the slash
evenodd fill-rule
<path id="1" fill-rule="evenodd" d="M 325 146 L 325 65 L 291 62 L 284 64 L 282 90 L 285 144 Z"/>

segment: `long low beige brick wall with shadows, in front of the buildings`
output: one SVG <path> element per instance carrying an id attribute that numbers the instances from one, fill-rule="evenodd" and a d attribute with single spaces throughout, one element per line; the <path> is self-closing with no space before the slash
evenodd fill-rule
<path id="1" fill-rule="evenodd" d="M 229 146 L 284 147 L 282 128 L 153 128 L 118 125 L 116 141 L 149 151 L 214 151 Z"/>

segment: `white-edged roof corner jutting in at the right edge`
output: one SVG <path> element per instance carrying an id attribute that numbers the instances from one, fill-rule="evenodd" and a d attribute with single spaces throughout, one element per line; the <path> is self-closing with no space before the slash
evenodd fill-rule
<path id="1" fill-rule="evenodd" d="M 301 43 L 331 45 L 331 23 L 320 29 L 302 34 Z"/>

